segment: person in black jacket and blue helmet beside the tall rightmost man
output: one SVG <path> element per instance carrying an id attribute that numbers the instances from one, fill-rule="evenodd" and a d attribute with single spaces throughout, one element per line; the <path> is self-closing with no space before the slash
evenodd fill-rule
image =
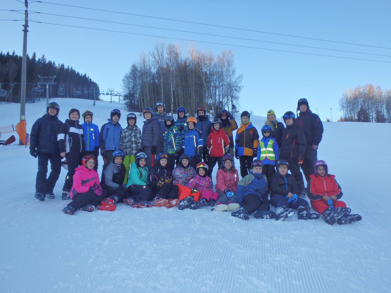
<path id="1" fill-rule="evenodd" d="M 305 135 L 303 129 L 296 124 L 293 112 L 286 112 L 283 120 L 287 127 L 282 130 L 280 159 L 288 162 L 289 169 L 299 189 L 299 196 L 303 197 L 305 189 L 300 165 L 303 163 L 303 156 L 307 147 Z"/>

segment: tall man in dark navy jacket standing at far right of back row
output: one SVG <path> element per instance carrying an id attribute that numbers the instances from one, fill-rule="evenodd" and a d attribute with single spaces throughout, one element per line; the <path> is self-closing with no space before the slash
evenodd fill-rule
<path id="1" fill-rule="evenodd" d="M 323 124 L 319 116 L 310 111 L 307 99 L 303 98 L 298 100 L 297 110 L 300 110 L 297 125 L 303 129 L 307 141 L 301 170 L 303 170 L 305 179 L 307 180 L 307 194 L 309 194 L 310 175 L 314 174 L 314 164 L 317 161 L 317 148 L 322 140 Z"/>

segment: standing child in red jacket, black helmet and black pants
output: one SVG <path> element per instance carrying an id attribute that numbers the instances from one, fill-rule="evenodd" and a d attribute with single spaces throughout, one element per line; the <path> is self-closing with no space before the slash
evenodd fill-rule
<path id="1" fill-rule="evenodd" d="M 206 147 L 208 148 L 208 176 L 212 179 L 212 172 L 216 162 L 217 166 L 220 167 L 222 165 L 222 157 L 228 154 L 230 149 L 230 139 L 226 132 L 221 129 L 221 120 L 219 118 L 212 120 L 212 131 L 208 136 Z"/>

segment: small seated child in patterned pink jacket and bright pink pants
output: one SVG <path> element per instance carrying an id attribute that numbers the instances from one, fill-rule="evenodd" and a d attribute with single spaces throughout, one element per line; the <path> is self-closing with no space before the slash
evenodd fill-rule
<path id="1" fill-rule="evenodd" d="M 191 189 L 192 193 L 190 196 L 181 200 L 178 206 L 180 210 L 206 207 L 208 205 L 208 200 L 209 204 L 213 206 L 219 197 L 218 193 L 213 192 L 212 180 L 210 180 L 210 177 L 208 176 L 208 165 L 204 162 L 199 162 L 197 164 L 197 175 L 189 181 L 187 187 Z M 201 199 L 198 201 L 199 197 L 201 197 Z"/>

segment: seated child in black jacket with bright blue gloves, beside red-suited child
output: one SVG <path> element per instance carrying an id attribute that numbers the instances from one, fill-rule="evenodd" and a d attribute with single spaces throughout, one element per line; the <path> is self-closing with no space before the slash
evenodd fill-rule
<path id="1" fill-rule="evenodd" d="M 298 210 L 299 220 L 319 219 L 318 213 L 310 213 L 308 202 L 298 197 L 299 189 L 292 174 L 288 173 L 289 165 L 285 160 L 276 162 L 276 171 L 270 179 L 270 203 L 276 207 L 276 214 L 272 218 L 283 221 L 294 214 L 293 209 Z"/>

